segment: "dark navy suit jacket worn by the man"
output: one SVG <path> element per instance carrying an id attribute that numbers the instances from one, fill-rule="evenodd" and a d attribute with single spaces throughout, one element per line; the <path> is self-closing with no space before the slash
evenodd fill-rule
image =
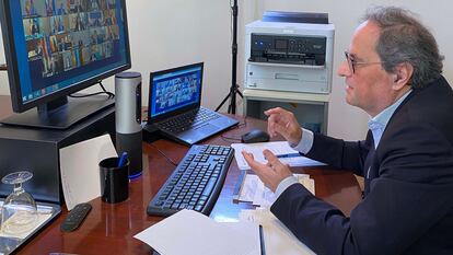
<path id="1" fill-rule="evenodd" d="M 309 158 L 367 177 L 371 146 L 315 135 Z M 414 90 L 374 152 L 350 218 L 291 185 L 272 213 L 317 254 L 453 254 L 453 92 L 443 77 Z"/>

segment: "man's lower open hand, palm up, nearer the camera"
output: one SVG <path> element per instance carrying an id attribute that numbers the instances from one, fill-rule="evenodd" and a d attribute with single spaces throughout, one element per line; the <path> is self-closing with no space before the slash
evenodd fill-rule
<path id="1" fill-rule="evenodd" d="M 267 159 L 267 164 L 262 164 L 255 161 L 253 154 L 246 151 L 242 151 L 242 154 L 244 155 L 244 159 L 251 169 L 256 173 L 256 175 L 258 175 L 265 186 L 272 190 L 272 193 L 276 192 L 277 186 L 281 181 L 292 175 L 289 166 L 281 163 L 278 158 L 269 150 L 263 151 L 263 154 Z"/>

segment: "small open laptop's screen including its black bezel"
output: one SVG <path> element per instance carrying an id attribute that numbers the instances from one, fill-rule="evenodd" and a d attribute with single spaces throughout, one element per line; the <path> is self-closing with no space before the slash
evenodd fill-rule
<path id="1" fill-rule="evenodd" d="M 151 119 L 200 106 L 202 62 L 152 72 L 149 114 Z"/>

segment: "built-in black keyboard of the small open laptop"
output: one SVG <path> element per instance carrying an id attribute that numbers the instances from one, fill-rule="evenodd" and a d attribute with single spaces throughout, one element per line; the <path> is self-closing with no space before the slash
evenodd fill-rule
<path id="1" fill-rule="evenodd" d="M 196 129 L 198 126 L 219 117 L 220 115 L 217 113 L 206 108 L 197 108 L 177 117 L 160 121 L 156 126 L 167 132 L 178 134 L 188 129 Z"/>

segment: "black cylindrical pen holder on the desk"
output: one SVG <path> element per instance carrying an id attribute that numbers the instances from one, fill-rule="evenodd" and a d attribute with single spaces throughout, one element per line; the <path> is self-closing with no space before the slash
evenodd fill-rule
<path id="1" fill-rule="evenodd" d="M 106 202 L 120 202 L 129 197 L 129 160 L 118 167 L 119 158 L 100 162 L 101 196 Z"/>

